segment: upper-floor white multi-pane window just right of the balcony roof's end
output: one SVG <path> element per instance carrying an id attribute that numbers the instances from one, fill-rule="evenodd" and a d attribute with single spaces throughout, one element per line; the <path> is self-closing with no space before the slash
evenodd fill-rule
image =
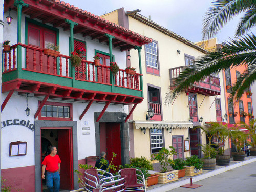
<path id="1" fill-rule="evenodd" d="M 157 62 L 157 44 L 155 42 L 151 42 L 150 44 L 145 45 L 146 51 L 146 65 L 150 67 L 154 67 L 158 69 L 158 62 Z"/>

